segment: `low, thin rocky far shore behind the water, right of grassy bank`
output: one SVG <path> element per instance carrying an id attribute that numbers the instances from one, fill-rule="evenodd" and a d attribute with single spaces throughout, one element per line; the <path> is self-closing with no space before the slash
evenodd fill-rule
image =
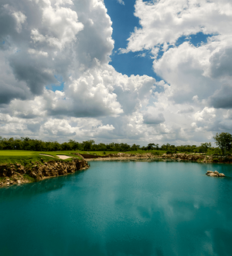
<path id="1" fill-rule="evenodd" d="M 108 154 L 105 156 L 97 156 L 94 154 L 81 154 L 86 161 L 117 161 L 117 160 L 132 160 L 132 161 L 155 161 L 155 160 L 172 160 L 172 161 L 196 161 L 200 163 L 232 163 L 232 156 L 208 156 L 206 154 Z"/>

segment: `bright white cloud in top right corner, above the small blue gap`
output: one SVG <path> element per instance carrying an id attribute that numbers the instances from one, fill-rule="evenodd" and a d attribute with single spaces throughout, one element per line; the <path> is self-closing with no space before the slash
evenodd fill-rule
<path id="1" fill-rule="evenodd" d="M 135 16 L 142 28 L 135 28 L 128 39 L 127 51 L 174 45 L 181 36 L 198 32 L 227 34 L 232 25 L 230 1 L 162 0 L 135 3 Z"/>

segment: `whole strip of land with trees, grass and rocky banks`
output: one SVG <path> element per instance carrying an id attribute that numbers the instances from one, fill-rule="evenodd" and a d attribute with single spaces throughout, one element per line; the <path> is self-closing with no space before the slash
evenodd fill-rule
<path id="1" fill-rule="evenodd" d="M 159 144 L 148 144 L 147 147 L 140 147 L 135 144 L 95 144 L 94 140 L 82 143 L 69 140 L 68 143 L 59 144 L 56 141 L 31 140 L 28 137 L 0 137 L 0 186 L 67 175 L 88 168 L 85 158 L 98 161 L 151 159 L 232 163 L 232 135 L 217 133 L 214 139 L 219 147 L 212 147 L 210 143 L 201 144 L 200 147 L 170 144 L 163 144 L 161 147 Z M 67 155 L 70 158 L 62 160 L 59 155 Z"/>

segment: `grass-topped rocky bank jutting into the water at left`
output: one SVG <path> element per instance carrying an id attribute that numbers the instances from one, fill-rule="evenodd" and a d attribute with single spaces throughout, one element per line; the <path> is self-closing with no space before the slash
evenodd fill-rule
<path id="1" fill-rule="evenodd" d="M 67 153 L 75 157 L 60 159 L 57 152 L 49 152 L 50 156 L 45 156 L 35 151 L 0 150 L 0 187 L 37 182 L 89 167 L 82 157 Z"/>

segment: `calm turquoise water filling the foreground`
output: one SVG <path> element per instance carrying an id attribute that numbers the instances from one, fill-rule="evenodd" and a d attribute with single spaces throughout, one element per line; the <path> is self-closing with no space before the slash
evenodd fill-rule
<path id="1" fill-rule="evenodd" d="M 232 165 L 90 165 L 0 189 L 1 256 L 232 255 Z"/>

